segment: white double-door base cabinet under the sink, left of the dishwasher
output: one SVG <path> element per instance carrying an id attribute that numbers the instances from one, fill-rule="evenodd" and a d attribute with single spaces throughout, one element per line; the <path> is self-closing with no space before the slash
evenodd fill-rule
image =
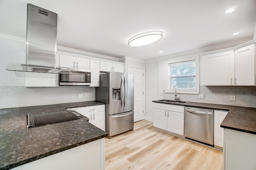
<path id="1" fill-rule="evenodd" d="M 184 135 L 184 106 L 154 103 L 153 126 Z"/>

